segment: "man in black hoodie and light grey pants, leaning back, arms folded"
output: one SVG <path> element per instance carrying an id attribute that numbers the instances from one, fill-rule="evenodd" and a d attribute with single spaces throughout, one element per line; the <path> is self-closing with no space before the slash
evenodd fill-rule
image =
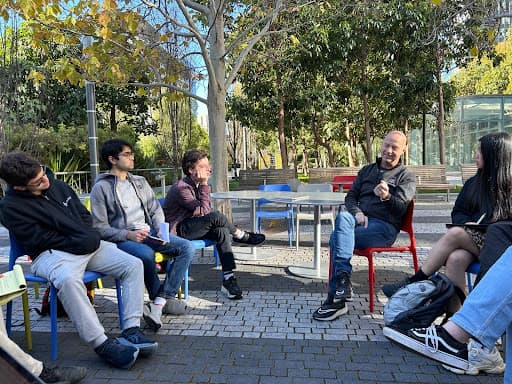
<path id="1" fill-rule="evenodd" d="M 91 215 L 75 192 L 46 174 L 46 168 L 22 152 L 0 162 L 0 177 L 9 185 L 0 201 L 0 221 L 32 258 L 32 272 L 51 281 L 82 340 L 108 363 L 130 368 L 158 343 L 140 330 L 144 299 L 142 263 L 101 240 Z M 121 337 L 108 338 L 83 283 L 86 269 L 120 279 L 123 285 Z"/>

